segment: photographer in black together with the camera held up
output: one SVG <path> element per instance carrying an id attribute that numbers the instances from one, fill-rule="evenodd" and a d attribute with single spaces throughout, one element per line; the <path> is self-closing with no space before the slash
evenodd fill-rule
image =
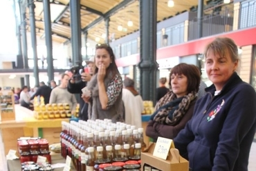
<path id="1" fill-rule="evenodd" d="M 93 72 L 95 70 L 94 57 L 91 57 L 86 62 L 86 68 L 82 66 L 75 66 L 71 68 L 73 77 L 68 81 L 68 92 L 72 94 L 82 95 L 82 88 L 86 87 L 87 82 L 91 80 Z M 85 103 L 83 99 L 80 99 L 79 119 L 87 121 L 88 119 L 88 103 Z"/>

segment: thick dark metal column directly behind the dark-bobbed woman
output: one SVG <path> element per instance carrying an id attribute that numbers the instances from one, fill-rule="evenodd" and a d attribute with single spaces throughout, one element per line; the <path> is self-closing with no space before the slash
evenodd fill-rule
<path id="1" fill-rule="evenodd" d="M 140 94 L 156 101 L 156 7 L 157 0 L 140 0 Z"/>

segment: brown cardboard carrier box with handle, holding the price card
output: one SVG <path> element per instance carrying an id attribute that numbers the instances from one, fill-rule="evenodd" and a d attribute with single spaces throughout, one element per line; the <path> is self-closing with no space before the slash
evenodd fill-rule
<path id="1" fill-rule="evenodd" d="M 152 143 L 149 147 L 141 153 L 141 168 L 147 163 L 154 168 L 162 171 L 188 171 L 188 161 L 179 155 L 179 161 L 175 159 L 172 154 L 172 148 L 169 150 L 169 154 L 166 160 L 153 156 L 156 143 Z"/>

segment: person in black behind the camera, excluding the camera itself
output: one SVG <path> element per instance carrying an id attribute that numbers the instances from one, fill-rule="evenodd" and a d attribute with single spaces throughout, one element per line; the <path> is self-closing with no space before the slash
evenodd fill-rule
<path id="1" fill-rule="evenodd" d="M 71 77 L 68 81 L 68 92 L 72 94 L 80 94 L 82 96 L 82 88 L 86 87 L 87 81 L 90 81 L 93 72 L 95 70 L 94 57 L 91 57 L 89 61 L 85 61 L 88 70 L 81 73 L 81 81 L 75 82 L 75 79 Z M 88 119 L 88 103 L 84 103 L 84 100 L 80 98 L 80 108 L 79 108 L 79 119 L 87 121 Z"/>

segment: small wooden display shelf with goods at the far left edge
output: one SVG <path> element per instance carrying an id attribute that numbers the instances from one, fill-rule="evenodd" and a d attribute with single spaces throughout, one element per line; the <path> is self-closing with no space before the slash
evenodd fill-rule
<path id="1" fill-rule="evenodd" d="M 15 97 L 10 90 L 0 91 L 1 121 L 15 120 Z"/>

